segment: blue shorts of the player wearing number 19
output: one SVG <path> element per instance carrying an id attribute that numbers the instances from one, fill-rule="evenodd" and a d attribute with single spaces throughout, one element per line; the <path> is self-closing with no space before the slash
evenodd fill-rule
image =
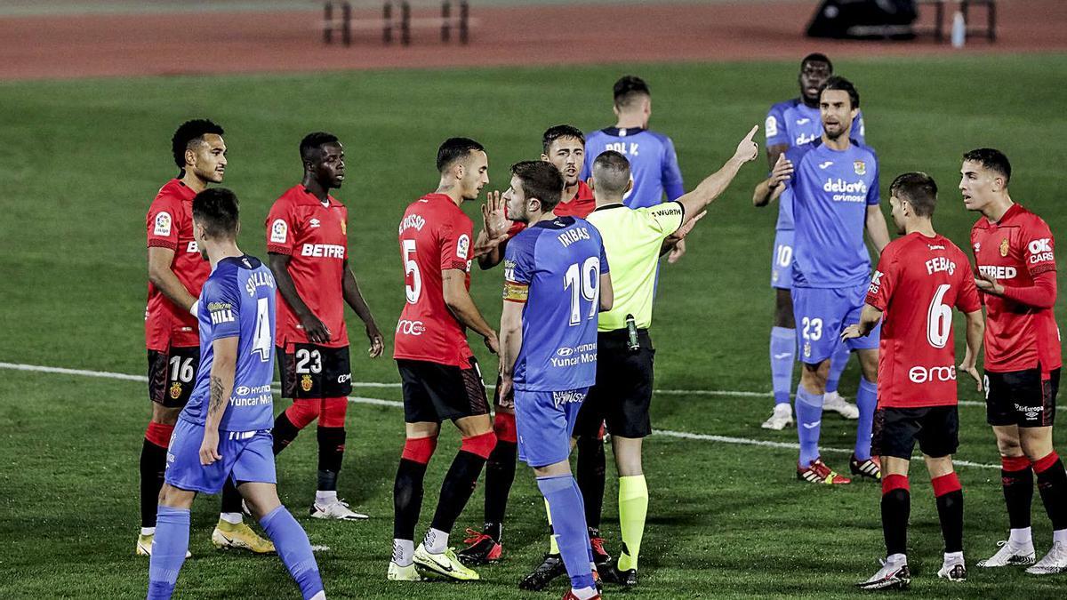
<path id="1" fill-rule="evenodd" d="M 589 388 L 567 392 L 515 390 L 519 459 L 534 468 L 568 460 L 574 422 L 588 394 Z"/>

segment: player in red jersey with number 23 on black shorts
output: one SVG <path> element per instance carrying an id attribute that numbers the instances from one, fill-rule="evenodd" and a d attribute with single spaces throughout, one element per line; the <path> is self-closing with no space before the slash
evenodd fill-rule
<path id="1" fill-rule="evenodd" d="M 345 414 L 352 391 L 345 303 L 363 320 L 370 358 L 382 356 L 375 323 L 348 262 L 348 209 L 330 195 L 345 180 L 345 147 L 317 131 L 300 142 L 303 180 L 271 206 L 267 251 L 277 281 L 277 357 L 282 396 L 292 406 L 274 421 L 274 454 L 318 419 L 318 485 L 310 516 L 366 519 L 337 498 L 345 457 Z"/>

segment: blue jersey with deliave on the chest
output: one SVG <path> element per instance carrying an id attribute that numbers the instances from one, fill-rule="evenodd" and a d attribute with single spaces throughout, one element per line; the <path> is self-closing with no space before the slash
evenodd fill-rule
<path id="1" fill-rule="evenodd" d="M 867 206 L 877 205 L 878 158 L 850 144 L 833 151 L 822 140 L 790 148 L 796 219 L 794 287 L 843 288 L 869 281 L 871 258 L 863 243 Z"/>

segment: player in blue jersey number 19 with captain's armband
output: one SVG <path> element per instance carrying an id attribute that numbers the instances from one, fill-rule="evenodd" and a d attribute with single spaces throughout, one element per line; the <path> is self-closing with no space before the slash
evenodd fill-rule
<path id="1" fill-rule="evenodd" d="M 571 578 L 564 600 L 600 598 L 571 433 L 596 380 L 598 314 L 611 307 L 611 279 L 600 232 L 557 217 L 563 177 L 548 162 L 511 167 L 508 215 L 527 227 L 504 258 L 500 397 L 514 394 L 519 458 L 534 468 Z"/>

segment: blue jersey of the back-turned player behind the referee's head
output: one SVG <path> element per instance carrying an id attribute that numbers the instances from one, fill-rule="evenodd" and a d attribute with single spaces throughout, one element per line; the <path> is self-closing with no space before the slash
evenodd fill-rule
<path id="1" fill-rule="evenodd" d="M 685 193 L 682 171 L 678 168 L 674 142 L 663 133 L 640 128 L 608 127 L 586 136 L 586 160 L 580 178 L 588 180 L 593 161 L 605 151 L 616 151 L 630 161 L 634 189 L 623 196 L 623 204 L 631 208 L 655 206 L 664 201 L 678 200 Z"/>

